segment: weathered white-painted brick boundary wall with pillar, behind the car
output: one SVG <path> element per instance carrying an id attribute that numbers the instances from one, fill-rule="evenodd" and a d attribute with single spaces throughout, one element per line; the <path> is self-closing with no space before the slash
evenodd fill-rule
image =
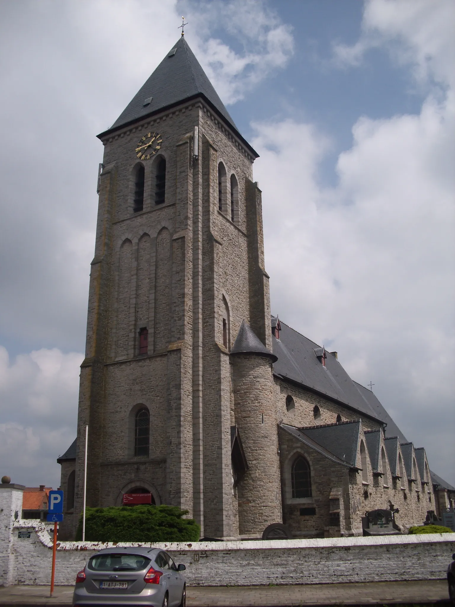
<path id="1" fill-rule="evenodd" d="M 50 583 L 52 538 L 47 529 L 49 524 L 39 521 L 13 523 L 8 584 Z M 30 539 L 19 539 L 19 530 L 30 531 Z M 120 546 L 162 548 L 186 565 L 187 582 L 200 586 L 438 580 L 446 576 L 455 533 L 156 544 L 62 541 L 55 583 L 72 585 L 92 554 Z"/>

